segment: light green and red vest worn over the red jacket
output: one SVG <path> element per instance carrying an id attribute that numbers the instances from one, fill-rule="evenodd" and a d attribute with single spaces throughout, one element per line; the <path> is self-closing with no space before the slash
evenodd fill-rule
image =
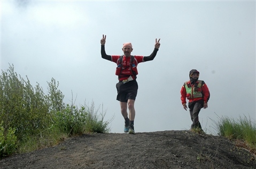
<path id="1" fill-rule="evenodd" d="M 191 86 L 190 81 L 185 82 L 185 89 L 187 92 L 187 99 L 192 99 L 192 98 L 200 98 L 203 97 L 202 94 L 202 81 L 197 80 L 198 83 L 195 83 L 195 85 Z"/>

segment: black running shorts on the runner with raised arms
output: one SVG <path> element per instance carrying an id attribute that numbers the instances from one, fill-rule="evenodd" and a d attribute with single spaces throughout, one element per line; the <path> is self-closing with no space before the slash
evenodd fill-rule
<path id="1" fill-rule="evenodd" d="M 128 102 L 128 99 L 135 100 L 138 91 L 138 83 L 136 80 L 127 83 L 119 82 L 116 85 L 118 96 L 117 100 L 120 102 Z"/>

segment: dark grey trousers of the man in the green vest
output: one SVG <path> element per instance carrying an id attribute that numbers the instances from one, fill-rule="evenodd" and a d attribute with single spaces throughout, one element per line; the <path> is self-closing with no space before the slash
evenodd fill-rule
<path id="1" fill-rule="evenodd" d="M 197 102 L 189 103 L 189 112 L 192 120 L 191 129 L 195 129 L 195 128 L 201 129 L 201 124 L 199 122 L 198 114 L 201 108 L 203 108 L 203 105 L 204 105 L 204 100 L 198 100 Z"/>

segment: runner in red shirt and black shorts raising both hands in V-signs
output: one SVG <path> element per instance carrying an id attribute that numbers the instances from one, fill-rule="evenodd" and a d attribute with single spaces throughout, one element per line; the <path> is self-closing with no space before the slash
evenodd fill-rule
<path id="1" fill-rule="evenodd" d="M 120 102 L 121 113 L 123 118 L 125 118 L 125 132 L 130 134 L 135 134 L 134 131 L 134 119 L 135 119 L 135 109 L 134 103 L 137 96 L 138 83 L 136 81 L 137 65 L 141 62 L 152 61 L 156 57 L 158 49 L 160 47 L 160 39 L 156 39 L 156 44 L 154 45 L 154 50 L 150 56 L 132 56 L 133 46 L 131 43 L 123 44 L 123 56 L 122 62 L 120 55 L 107 55 L 105 52 L 106 35 L 100 40 L 101 54 L 102 58 L 117 63 L 117 71 L 119 82 L 117 83 L 117 100 Z M 132 61 L 131 61 L 132 60 Z M 129 117 L 127 113 L 127 105 L 129 109 Z"/>

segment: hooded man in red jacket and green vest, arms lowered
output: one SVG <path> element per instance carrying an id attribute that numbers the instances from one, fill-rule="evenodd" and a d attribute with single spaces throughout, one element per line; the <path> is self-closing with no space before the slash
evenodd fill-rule
<path id="1" fill-rule="evenodd" d="M 189 72 L 190 80 L 185 82 L 181 88 L 181 103 L 183 108 L 187 111 L 186 98 L 189 100 L 189 112 L 192 120 L 191 129 L 201 129 L 198 114 L 201 108 L 208 107 L 208 100 L 210 98 L 210 92 L 206 83 L 203 80 L 198 80 L 199 72 L 196 69 L 192 69 Z M 203 130 L 202 130 L 203 131 Z"/>

